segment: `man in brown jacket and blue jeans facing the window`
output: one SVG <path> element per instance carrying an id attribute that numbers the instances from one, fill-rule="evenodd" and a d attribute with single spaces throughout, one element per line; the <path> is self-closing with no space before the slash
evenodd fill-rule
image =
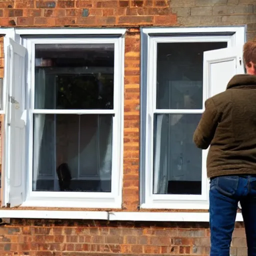
<path id="1" fill-rule="evenodd" d="M 256 40 L 244 44 L 243 59 L 247 74 L 205 101 L 193 135 L 197 147 L 210 145 L 210 256 L 229 256 L 238 201 L 248 256 L 256 255 Z"/>

